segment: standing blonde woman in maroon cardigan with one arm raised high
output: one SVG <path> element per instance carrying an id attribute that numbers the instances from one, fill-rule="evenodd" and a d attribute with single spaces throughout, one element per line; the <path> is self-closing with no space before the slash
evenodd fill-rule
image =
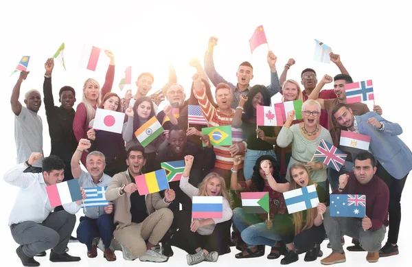
<path id="1" fill-rule="evenodd" d="M 89 124 L 95 117 L 96 109 L 102 103 L 102 95 L 110 93 L 113 80 L 115 78 L 115 56 L 112 51 L 104 50 L 104 53 L 110 58 L 110 63 L 106 72 L 106 80 L 102 88 L 97 80 L 93 78 L 87 79 L 83 84 L 82 102 L 76 108 L 76 113 L 73 119 L 73 133 L 77 141 L 82 138 L 87 138 Z M 86 157 L 88 153 L 82 154 L 82 163 L 86 166 Z"/>

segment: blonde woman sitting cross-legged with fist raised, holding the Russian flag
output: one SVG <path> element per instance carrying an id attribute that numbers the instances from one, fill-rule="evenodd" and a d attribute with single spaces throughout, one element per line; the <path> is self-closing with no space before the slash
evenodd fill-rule
<path id="1" fill-rule="evenodd" d="M 185 170 L 183 171 L 180 188 L 193 198 L 193 196 L 222 196 L 222 218 L 192 219 L 191 213 L 179 211 L 179 231 L 172 238 L 172 245 L 185 250 L 187 264 L 194 265 L 204 260 L 216 262 L 219 255 L 229 253 L 230 226 L 233 211 L 229 205 L 229 194 L 226 189 L 225 179 L 219 174 L 211 172 L 203 179 L 198 188 L 190 185 L 189 174 L 192 169 L 194 157 L 185 156 Z M 189 220 L 187 220 L 189 218 Z M 175 218 L 176 219 L 176 218 Z"/>

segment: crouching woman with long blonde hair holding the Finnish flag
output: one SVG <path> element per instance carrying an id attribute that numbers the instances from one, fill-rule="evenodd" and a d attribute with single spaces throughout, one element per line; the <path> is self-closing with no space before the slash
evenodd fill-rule
<path id="1" fill-rule="evenodd" d="M 262 170 L 269 173 L 268 163 L 261 163 Z M 273 190 L 279 192 L 290 191 L 309 185 L 316 187 L 319 204 L 316 208 L 305 211 L 297 211 L 286 215 L 277 214 L 273 219 L 273 229 L 282 237 L 282 240 L 288 248 L 288 252 L 280 264 L 291 264 L 297 262 L 299 256 L 297 250 L 305 252 L 305 262 L 313 262 L 317 257 L 323 255 L 321 243 L 325 239 L 325 228 L 323 227 L 322 214 L 326 211 L 327 194 L 323 187 L 314 183 L 310 178 L 308 169 L 304 164 L 294 163 L 289 168 L 290 183 L 279 184 L 271 176 L 268 177 L 268 183 Z"/>

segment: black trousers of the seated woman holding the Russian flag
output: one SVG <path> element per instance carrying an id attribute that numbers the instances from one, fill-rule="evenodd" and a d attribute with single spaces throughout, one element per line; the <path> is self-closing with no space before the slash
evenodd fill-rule
<path id="1" fill-rule="evenodd" d="M 179 224 L 178 231 L 172 237 L 172 246 L 183 249 L 188 254 L 195 254 L 196 248 L 203 248 L 206 251 L 217 251 L 219 255 L 230 253 L 230 226 L 231 220 L 216 224 L 211 235 L 201 235 L 190 231 L 192 213 L 189 211 L 179 211 L 174 217 Z"/>

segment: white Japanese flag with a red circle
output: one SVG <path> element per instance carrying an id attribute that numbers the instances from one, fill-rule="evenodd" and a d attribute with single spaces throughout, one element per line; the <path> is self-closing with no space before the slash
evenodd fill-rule
<path id="1" fill-rule="evenodd" d="M 121 134 L 123 130 L 123 123 L 124 113 L 98 108 L 96 110 L 93 128 Z"/>

